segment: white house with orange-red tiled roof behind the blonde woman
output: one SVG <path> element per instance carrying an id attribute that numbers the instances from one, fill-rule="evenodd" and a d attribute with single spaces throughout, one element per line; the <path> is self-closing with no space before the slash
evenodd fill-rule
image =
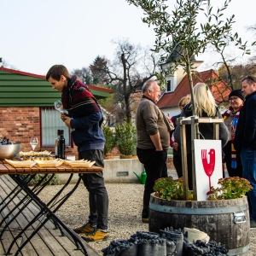
<path id="1" fill-rule="evenodd" d="M 159 102 L 157 102 L 157 106 L 170 117 L 180 113 L 178 102 L 183 96 L 190 94 L 188 75 L 182 74 L 183 71 L 177 70 L 173 78 L 167 79 L 166 91 L 160 96 Z M 193 84 L 195 85 L 200 82 L 208 84 L 217 105 L 220 108 L 225 108 L 228 104 L 228 96 L 231 89 L 228 84 L 219 79 L 218 73 L 212 69 L 194 73 Z"/>

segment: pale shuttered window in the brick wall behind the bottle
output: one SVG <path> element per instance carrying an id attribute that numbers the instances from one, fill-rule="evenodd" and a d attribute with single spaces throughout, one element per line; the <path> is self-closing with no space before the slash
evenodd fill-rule
<path id="1" fill-rule="evenodd" d="M 62 122 L 60 112 L 55 108 L 40 108 L 40 113 L 42 147 L 54 147 L 57 130 L 64 130 L 65 144 L 70 145 L 70 131 Z"/>

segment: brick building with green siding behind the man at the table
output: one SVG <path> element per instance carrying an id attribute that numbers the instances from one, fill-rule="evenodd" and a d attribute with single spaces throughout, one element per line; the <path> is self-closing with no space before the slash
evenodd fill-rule
<path id="1" fill-rule="evenodd" d="M 106 88 L 88 87 L 96 99 L 112 93 Z M 8 137 L 13 143 L 21 143 L 22 151 L 29 151 L 30 137 L 38 137 L 36 150 L 53 150 L 57 130 L 64 130 L 66 146 L 75 154 L 69 128 L 54 108 L 54 102 L 60 99 L 61 94 L 52 90 L 45 76 L 0 67 L 0 140 Z"/>

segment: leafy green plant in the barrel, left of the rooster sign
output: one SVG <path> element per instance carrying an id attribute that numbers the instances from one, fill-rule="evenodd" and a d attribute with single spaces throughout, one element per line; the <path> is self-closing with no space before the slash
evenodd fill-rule
<path id="1" fill-rule="evenodd" d="M 154 182 L 155 196 L 166 200 L 183 200 L 183 178 L 161 177 Z M 192 199 L 189 191 L 189 199 Z"/>

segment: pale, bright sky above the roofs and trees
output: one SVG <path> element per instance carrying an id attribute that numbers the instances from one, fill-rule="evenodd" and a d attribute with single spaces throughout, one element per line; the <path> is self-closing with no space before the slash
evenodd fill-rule
<path id="1" fill-rule="evenodd" d="M 170 3 L 176 1 L 170 0 Z M 212 3 L 224 3 L 214 0 Z M 253 0 L 232 0 L 235 30 L 251 40 L 246 26 L 256 24 Z M 69 71 L 89 65 L 97 55 L 113 58 L 114 40 L 154 45 L 153 28 L 142 21 L 143 11 L 125 0 L 0 0 L 0 57 L 4 67 L 45 75 L 62 64 Z M 200 61 L 212 57 L 201 55 Z"/>

